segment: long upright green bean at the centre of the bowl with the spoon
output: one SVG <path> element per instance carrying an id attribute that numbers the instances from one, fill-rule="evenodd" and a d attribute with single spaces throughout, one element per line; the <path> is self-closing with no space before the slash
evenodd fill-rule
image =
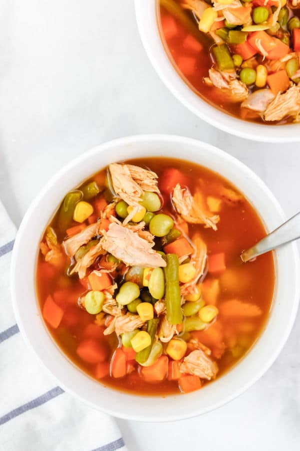
<path id="1" fill-rule="evenodd" d="M 164 302 L 166 306 L 166 319 L 170 324 L 182 322 L 179 288 L 179 261 L 176 254 L 166 254 L 166 267 L 163 268 L 165 278 Z"/>

